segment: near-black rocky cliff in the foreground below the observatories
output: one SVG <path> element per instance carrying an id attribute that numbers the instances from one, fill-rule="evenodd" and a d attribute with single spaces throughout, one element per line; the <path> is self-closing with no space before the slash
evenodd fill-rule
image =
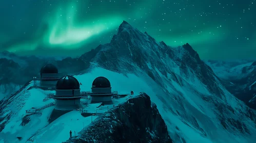
<path id="1" fill-rule="evenodd" d="M 98 117 L 66 142 L 172 142 L 167 126 L 146 93 Z"/>

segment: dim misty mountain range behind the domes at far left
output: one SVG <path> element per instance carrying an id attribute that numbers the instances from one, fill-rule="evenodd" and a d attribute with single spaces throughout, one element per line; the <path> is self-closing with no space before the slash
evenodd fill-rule
<path id="1" fill-rule="evenodd" d="M 17 56 L 4 51 L 0 53 L 0 99 L 21 88 L 33 77 L 40 76 L 40 69 L 47 63 L 53 63 L 63 75 L 82 71 L 89 66 L 80 58 L 56 60 L 49 57 Z"/>

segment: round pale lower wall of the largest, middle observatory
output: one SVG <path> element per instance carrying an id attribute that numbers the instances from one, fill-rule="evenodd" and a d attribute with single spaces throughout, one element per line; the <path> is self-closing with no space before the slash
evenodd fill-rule
<path id="1" fill-rule="evenodd" d="M 56 100 L 56 110 L 75 110 L 81 107 L 80 99 L 76 100 Z"/>

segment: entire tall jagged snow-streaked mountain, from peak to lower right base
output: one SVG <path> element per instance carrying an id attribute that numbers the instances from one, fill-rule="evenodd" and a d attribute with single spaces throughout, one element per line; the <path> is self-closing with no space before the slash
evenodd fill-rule
<path id="1" fill-rule="evenodd" d="M 157 107 L 162 108 L 160 113 L 171 138 L 186 138 L 187 142 L 243 142 L 253 138 L 249 134 L 255 133 L 254 111 L 225 89 L 189 44 L 170 47 L 123 22 L 110 43 L 81 58 L 116 73 L 136 75 L 148 83 L 153 90 L 149 93 L 153 102 L 160 100 Z M 184 129 L 191 127 L 201 137 L 192 137 L 188 130 L 177 135 L 173 124 L 184 124 Z M 247 137 L 238 139 L 233 134 Z"/>

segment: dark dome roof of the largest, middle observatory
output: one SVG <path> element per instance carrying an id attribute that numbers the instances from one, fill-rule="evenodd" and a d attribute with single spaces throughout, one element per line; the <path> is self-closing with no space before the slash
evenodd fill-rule
<path id="1" fill-rule="evenodd" d="M 80 89 L 80 84 L 73 76 L 64 76 L 57 81 L 56 89 Z"/>

